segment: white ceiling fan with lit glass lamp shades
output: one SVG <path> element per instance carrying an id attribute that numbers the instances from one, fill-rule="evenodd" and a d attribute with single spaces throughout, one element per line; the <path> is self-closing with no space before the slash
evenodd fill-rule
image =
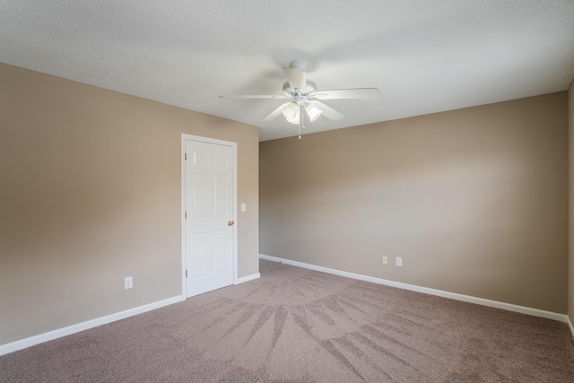
<path id="1" fill-rule="evenodd" d="M 287 82 L 283 83 L 283 94 L 254 94 L 254 95 L 231 95 L 220 96 L 221 99 L 286 99 L 289 100 L 277 109 L 269 113 L 262 121 L 270 121 L 280 114 L 291 124 L 299 125 L 299 139 L 301 138 L 301 128 L 305 128 L 304 116 L 307 115 L 310 121 L 315 121 L 323 115 L 332 121 L 344 118 L 343 114 L 327 106 L 319 100 L 337 99 L 374 99 L 380 97 L 377 88 L 358 89 L 335 89 L 332 91 L 317 91 L 317 85 L 307 80 L 307 69 L 309 63 L 305 60 L 291 61 L 288 68 L 283 68 L 287 76 Z"/>

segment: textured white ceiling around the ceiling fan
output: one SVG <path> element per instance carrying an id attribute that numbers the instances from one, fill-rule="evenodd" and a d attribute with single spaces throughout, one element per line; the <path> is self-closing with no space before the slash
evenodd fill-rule
<path id="1" fill-rule="evenodd" d="M 279 117 L 283 67 L 309 61 L 344 113 L 305 133 L 564 91 L 573 0 L 0 0 L 0 62 L 297 135 Z M 0 84 L 1 86 L 1 84 Z"/>

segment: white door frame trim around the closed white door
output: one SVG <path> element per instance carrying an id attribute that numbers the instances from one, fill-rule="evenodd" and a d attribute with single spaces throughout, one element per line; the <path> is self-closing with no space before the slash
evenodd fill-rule
<path id="1" fill-rule="evenodd" d="M 206 144 L 220 144 L 231 146 L 233 148 L 233 221 L 235 224 L 232 226 L 233 232 L 233 284 L 237 284 L 238 270 L 237 270 L 237 143 L 230 141 L 217 140 L 215 138 L 202 137 L 200 135 L 187 135 L 181 134 L 181 295 L 184 299 L 187 298 L 187 281 L 186 281 L 186 141 L 198 141 Z"/>

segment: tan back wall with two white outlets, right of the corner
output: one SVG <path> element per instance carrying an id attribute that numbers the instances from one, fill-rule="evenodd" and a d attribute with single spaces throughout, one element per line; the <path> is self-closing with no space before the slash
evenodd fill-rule
<path id="1" fill-rule="evenodd" d="M 261 143 L 260 251 L 566 313 L 567 108 L 562 91 Z"/>

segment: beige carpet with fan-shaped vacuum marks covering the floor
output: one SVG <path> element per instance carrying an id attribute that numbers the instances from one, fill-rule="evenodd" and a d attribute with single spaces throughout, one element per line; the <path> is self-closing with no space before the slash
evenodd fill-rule
<path id="1" fill-rule="evenodd" d="M 261 278 L 0 357 L 1 382 L 574 382 L 566 324 L 261 261 Z"/>

